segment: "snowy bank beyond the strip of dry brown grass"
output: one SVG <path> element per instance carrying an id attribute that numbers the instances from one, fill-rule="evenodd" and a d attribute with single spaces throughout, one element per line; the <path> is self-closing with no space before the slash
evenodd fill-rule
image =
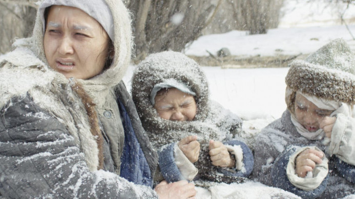
<path id="1" fill-rule="evenodd" d="M 355 24 L 350 24 L 349 29 L 355 36 Z M 330 40 L 339 37 L 346 40 L 355 50 L 355 40 L 352 39 L 346 27 L 333 25 L 278 28 L 260 35 L 248 35 L 247 31 L 205 35 L 187 46 L 184 53 L 186 55 L 208 56 L 208 51 L 216 55 L 219 49 L 227 47 L 232 55 L 238 56 L 309 54 Z"/>

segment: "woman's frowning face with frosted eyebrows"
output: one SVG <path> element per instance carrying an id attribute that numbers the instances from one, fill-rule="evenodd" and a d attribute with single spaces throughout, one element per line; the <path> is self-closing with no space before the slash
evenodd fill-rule
<path id="1" fill-rule="evenodd" d="M 46 23 L 44 48 L 51 68 L 84 80 L 102 71 L 109 37 L 99 22 L 78 8 L 52 6 Z"/>

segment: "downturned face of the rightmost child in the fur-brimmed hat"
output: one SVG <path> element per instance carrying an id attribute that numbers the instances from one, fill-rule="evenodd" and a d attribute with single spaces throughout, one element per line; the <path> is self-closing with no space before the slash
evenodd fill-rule
<path id="1" fill-rule="evenodd" d="M 316 132 L 319 123 L 333 111 L 320 109 L 307 98 L 297 93 L 295 98 L 295 116 L 301 125 L 309 132 Z"/>

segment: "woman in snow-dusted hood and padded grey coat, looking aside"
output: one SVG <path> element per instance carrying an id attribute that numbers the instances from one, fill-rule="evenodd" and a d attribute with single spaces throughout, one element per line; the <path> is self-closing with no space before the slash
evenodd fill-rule
<path id="1" fill-rule="evenodd" d="M 40 3 L 0 60 L 1 196 L 194 196 L 186 181 L 152 189 L 157 155 L 121 82 L 131 40 L 121 1 Z"/>

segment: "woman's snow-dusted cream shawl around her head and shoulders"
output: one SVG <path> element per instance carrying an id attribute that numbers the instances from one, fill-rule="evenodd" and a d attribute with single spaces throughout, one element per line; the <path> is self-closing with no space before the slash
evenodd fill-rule
<path id="1" fill-rule="evenodd" d="M 83 100 L 91 98 L 93 103 L 89 105 L 96 104 L 98 108 L 107 107 L 109 101 L 115 102 L 111 91 L 121 81 L 131 57 L 129 12 L 119 0 L 107 0 L 106 3 L 114 21 L 115 55 L 111 67 L 97 76 L 88 80 L 67 79 L 48 65 L 43 47 L 43 17 L 38 14 L 40 12 L 37 12 L 33 36 L 18 39 L 14 43 L 14 51 L 0 57 L 0 108 L 6 104 L 11 106 L 12 97 L 25 97 L 29 93 L 40 108 L 49 111 L 66 125 L 77 146 L 85 154 L 90 170 L 96 170 L 99 165 L 101 152 L 95 132 L 98 133 L 100 129 L 98 122 L 93 122 L 97 114 L 89 116 L 85 107 L 88 103 Z M 82 85 L 80 92 L 73 90 L 79 88 L 77 85 Z M 81 92 L 81 88 L 86 93 Z"/>

